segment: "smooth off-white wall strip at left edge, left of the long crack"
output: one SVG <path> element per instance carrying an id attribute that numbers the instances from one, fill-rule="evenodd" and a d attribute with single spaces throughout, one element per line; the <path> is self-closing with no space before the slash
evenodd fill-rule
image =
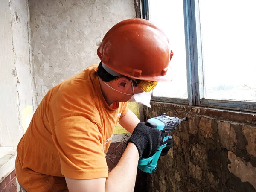
<path id="1" fill-rule="evenodd" d="M 14 138 L 19 138 L 17 127 L 18 111 L 17 111 L 17 79 L 16 74 L 13 75 L 14 69 L 14 53 L 12 45 L 12 25 L 11 10 L 9 0 L 0 1 L 0 26 L 4 26 L 0 30 L 0 145 L 12 146 L 15 142 Z M 12 137 L 10 137 L 12 136 Z"/>

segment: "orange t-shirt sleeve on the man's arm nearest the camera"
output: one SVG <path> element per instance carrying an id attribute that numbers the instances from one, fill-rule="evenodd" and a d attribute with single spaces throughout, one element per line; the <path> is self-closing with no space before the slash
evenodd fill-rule
<path id="1" fill-rule="evenodd" d="M 104 141 L 98 126 L 82 116 L 59 120 L 52 131 L 61 174 L 72 179 L 108 177 Z"/>

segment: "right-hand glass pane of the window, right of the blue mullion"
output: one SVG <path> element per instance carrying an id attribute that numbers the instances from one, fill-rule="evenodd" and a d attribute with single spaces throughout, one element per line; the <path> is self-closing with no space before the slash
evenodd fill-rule
<path id="1" fill-rule="evenodd" d="M 204 98 L 256 101 L 256 0 L 199 0 Z"/>

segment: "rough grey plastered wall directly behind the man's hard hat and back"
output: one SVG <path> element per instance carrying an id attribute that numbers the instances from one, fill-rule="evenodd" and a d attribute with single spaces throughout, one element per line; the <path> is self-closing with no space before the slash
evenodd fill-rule
<path id="1" fill-rule="evenodd" d="M 30 0 L 38 104 L 48 90 L 98 64 L 96 41 L 114 24 L 135 18 L 134 0 Z"/>

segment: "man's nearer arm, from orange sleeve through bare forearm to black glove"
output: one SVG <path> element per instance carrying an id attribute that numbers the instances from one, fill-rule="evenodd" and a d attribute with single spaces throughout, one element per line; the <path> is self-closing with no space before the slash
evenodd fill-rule
<path id="1" fill-rule="evenodd" d="M 138 123 L 119 163 L 106 175 L 102 138 L 96 125 L 84 117 L 67 117 L 56 123 L 55 135 L 53 139 L 60 151 L 61 173 L 70 192 L 133 192 L 138 160 L 151 157 L 161 140 L 161 131 Z"/>

